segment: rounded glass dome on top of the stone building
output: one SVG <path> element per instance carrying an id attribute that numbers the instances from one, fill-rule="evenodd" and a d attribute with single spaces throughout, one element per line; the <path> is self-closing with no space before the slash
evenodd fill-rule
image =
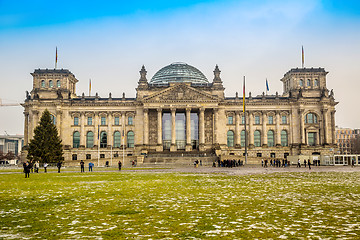
<path id="1" fill-rule="evenodd" d="M 161 85 L 170 82 L 209 83 L 199 69 L 181 62 L 172 63 L 157 71 L 152 77 L 150 84 Z"/>

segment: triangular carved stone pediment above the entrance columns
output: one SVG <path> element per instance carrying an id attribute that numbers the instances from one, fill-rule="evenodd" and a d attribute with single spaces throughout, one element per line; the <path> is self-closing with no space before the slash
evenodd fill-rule
<path id="1" fill-rule="evenodd" d="M 146 102 L 219 101 L 219 98 L 185 84 L 171 86 L 144 98 Z"/>

